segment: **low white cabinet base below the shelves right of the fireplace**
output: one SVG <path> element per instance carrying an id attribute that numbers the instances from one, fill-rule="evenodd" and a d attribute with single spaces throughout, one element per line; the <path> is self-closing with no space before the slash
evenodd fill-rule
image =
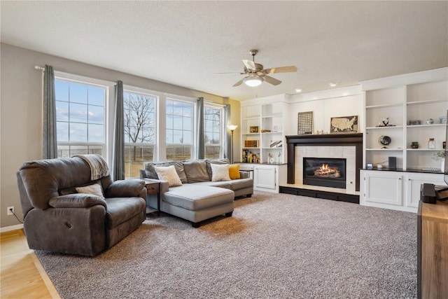
<path id="1" fill-rule="evenodd" d="M 360 170 L 359 204 L 399 211 L 417 211 L 422 183 L 445 186 L 443 174 Z"/>

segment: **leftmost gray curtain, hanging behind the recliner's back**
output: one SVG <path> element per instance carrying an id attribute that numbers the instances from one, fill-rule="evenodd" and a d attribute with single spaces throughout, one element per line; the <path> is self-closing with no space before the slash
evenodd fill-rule
<path id="1" fill-rule="evenodd" d="M 57 158 L 55 71 L 45 65 L 43 74 L 43 159 Z"/>

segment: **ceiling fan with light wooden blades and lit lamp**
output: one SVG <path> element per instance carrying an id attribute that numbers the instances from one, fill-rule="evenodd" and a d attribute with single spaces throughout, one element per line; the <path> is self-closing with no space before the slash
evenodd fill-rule
<path id="1" fill-rule="evenodd" d="M 281 83 L 280 80 L 277 80 L 276 78 L 272 78 L 271 76 L 267 76 L 267 74 L 274 74 L 274 73 L 290 73 L 297 71 L 297 67 L 290 66 L 290 67 L 272 67 L 270 69 L 263 69 L 262 64 L 255 63 L 255 55 L 257 55 L 258 50 L 250 50 L 249 54 L 252 55 L 252 61 L 251 60 L 242 60 L 244 64 L 244 72 L 243 73 L 236 73 L 241 75 L 248 75 L 245 78 L 242 78 L 240 81 L 235 83 L 233 87 L 239 86 L 242 83 L 255 87 L 260 85 L 263 81 L 266 81 L 269 84 L 272 85 L 279 85 Z M 227 73 L 229 74 L 229 73 Z M 232 73 L 231 73 L 232 74 Z M 235 74 L 235 73 L 233 73 Z"/>

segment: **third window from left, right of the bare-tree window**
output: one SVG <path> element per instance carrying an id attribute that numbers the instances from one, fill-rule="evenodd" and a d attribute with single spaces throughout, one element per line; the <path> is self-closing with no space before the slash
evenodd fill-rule
<path id="1" fill-rule="evenodd" d="M 167 99 L 167 160 L 193 158 L 194 104 Z"/>

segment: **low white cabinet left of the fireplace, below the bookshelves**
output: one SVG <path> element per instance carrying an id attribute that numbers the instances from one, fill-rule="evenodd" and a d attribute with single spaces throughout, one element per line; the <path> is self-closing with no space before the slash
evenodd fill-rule
<path id="1" fill-rule="evenodd" d="M 287 165 L 246 164 L 241 163 L 241 170 L 253 172 L 253 189 L 279 193 L 280 184 L 286 184 Z"/>

